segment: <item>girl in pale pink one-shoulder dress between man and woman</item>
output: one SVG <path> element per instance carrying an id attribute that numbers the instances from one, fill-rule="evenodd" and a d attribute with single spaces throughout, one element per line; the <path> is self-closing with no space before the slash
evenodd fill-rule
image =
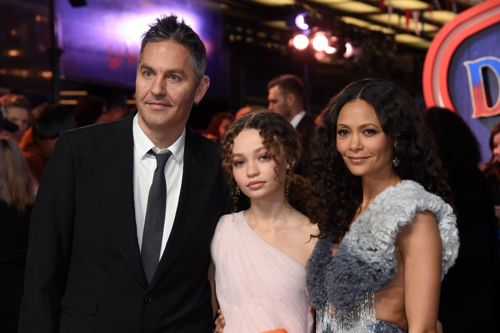
<path id="1" fill-rule="evenodd" d="M 234 202 L 250 206 L 222 216 L 211 243 L 225 333 L 312 330 L 305 267 L 318 229 L 302 213 L 310 196 L 292 172 L 299 156 L 297 133 L 280 114 L 248 114 L 227 129 L 222 168 Z"/>

